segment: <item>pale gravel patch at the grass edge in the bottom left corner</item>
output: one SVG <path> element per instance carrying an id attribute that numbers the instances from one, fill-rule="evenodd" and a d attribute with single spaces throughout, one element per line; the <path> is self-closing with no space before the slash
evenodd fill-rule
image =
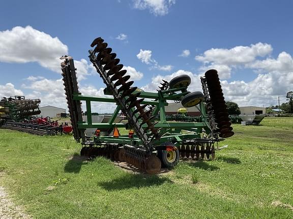
<path id="1" fill-rule="evenodd" d="M 0 218 L 1 219 L 31 219 L 21 207 L 16 206 L 3 187 L 0 187 Z"/>

